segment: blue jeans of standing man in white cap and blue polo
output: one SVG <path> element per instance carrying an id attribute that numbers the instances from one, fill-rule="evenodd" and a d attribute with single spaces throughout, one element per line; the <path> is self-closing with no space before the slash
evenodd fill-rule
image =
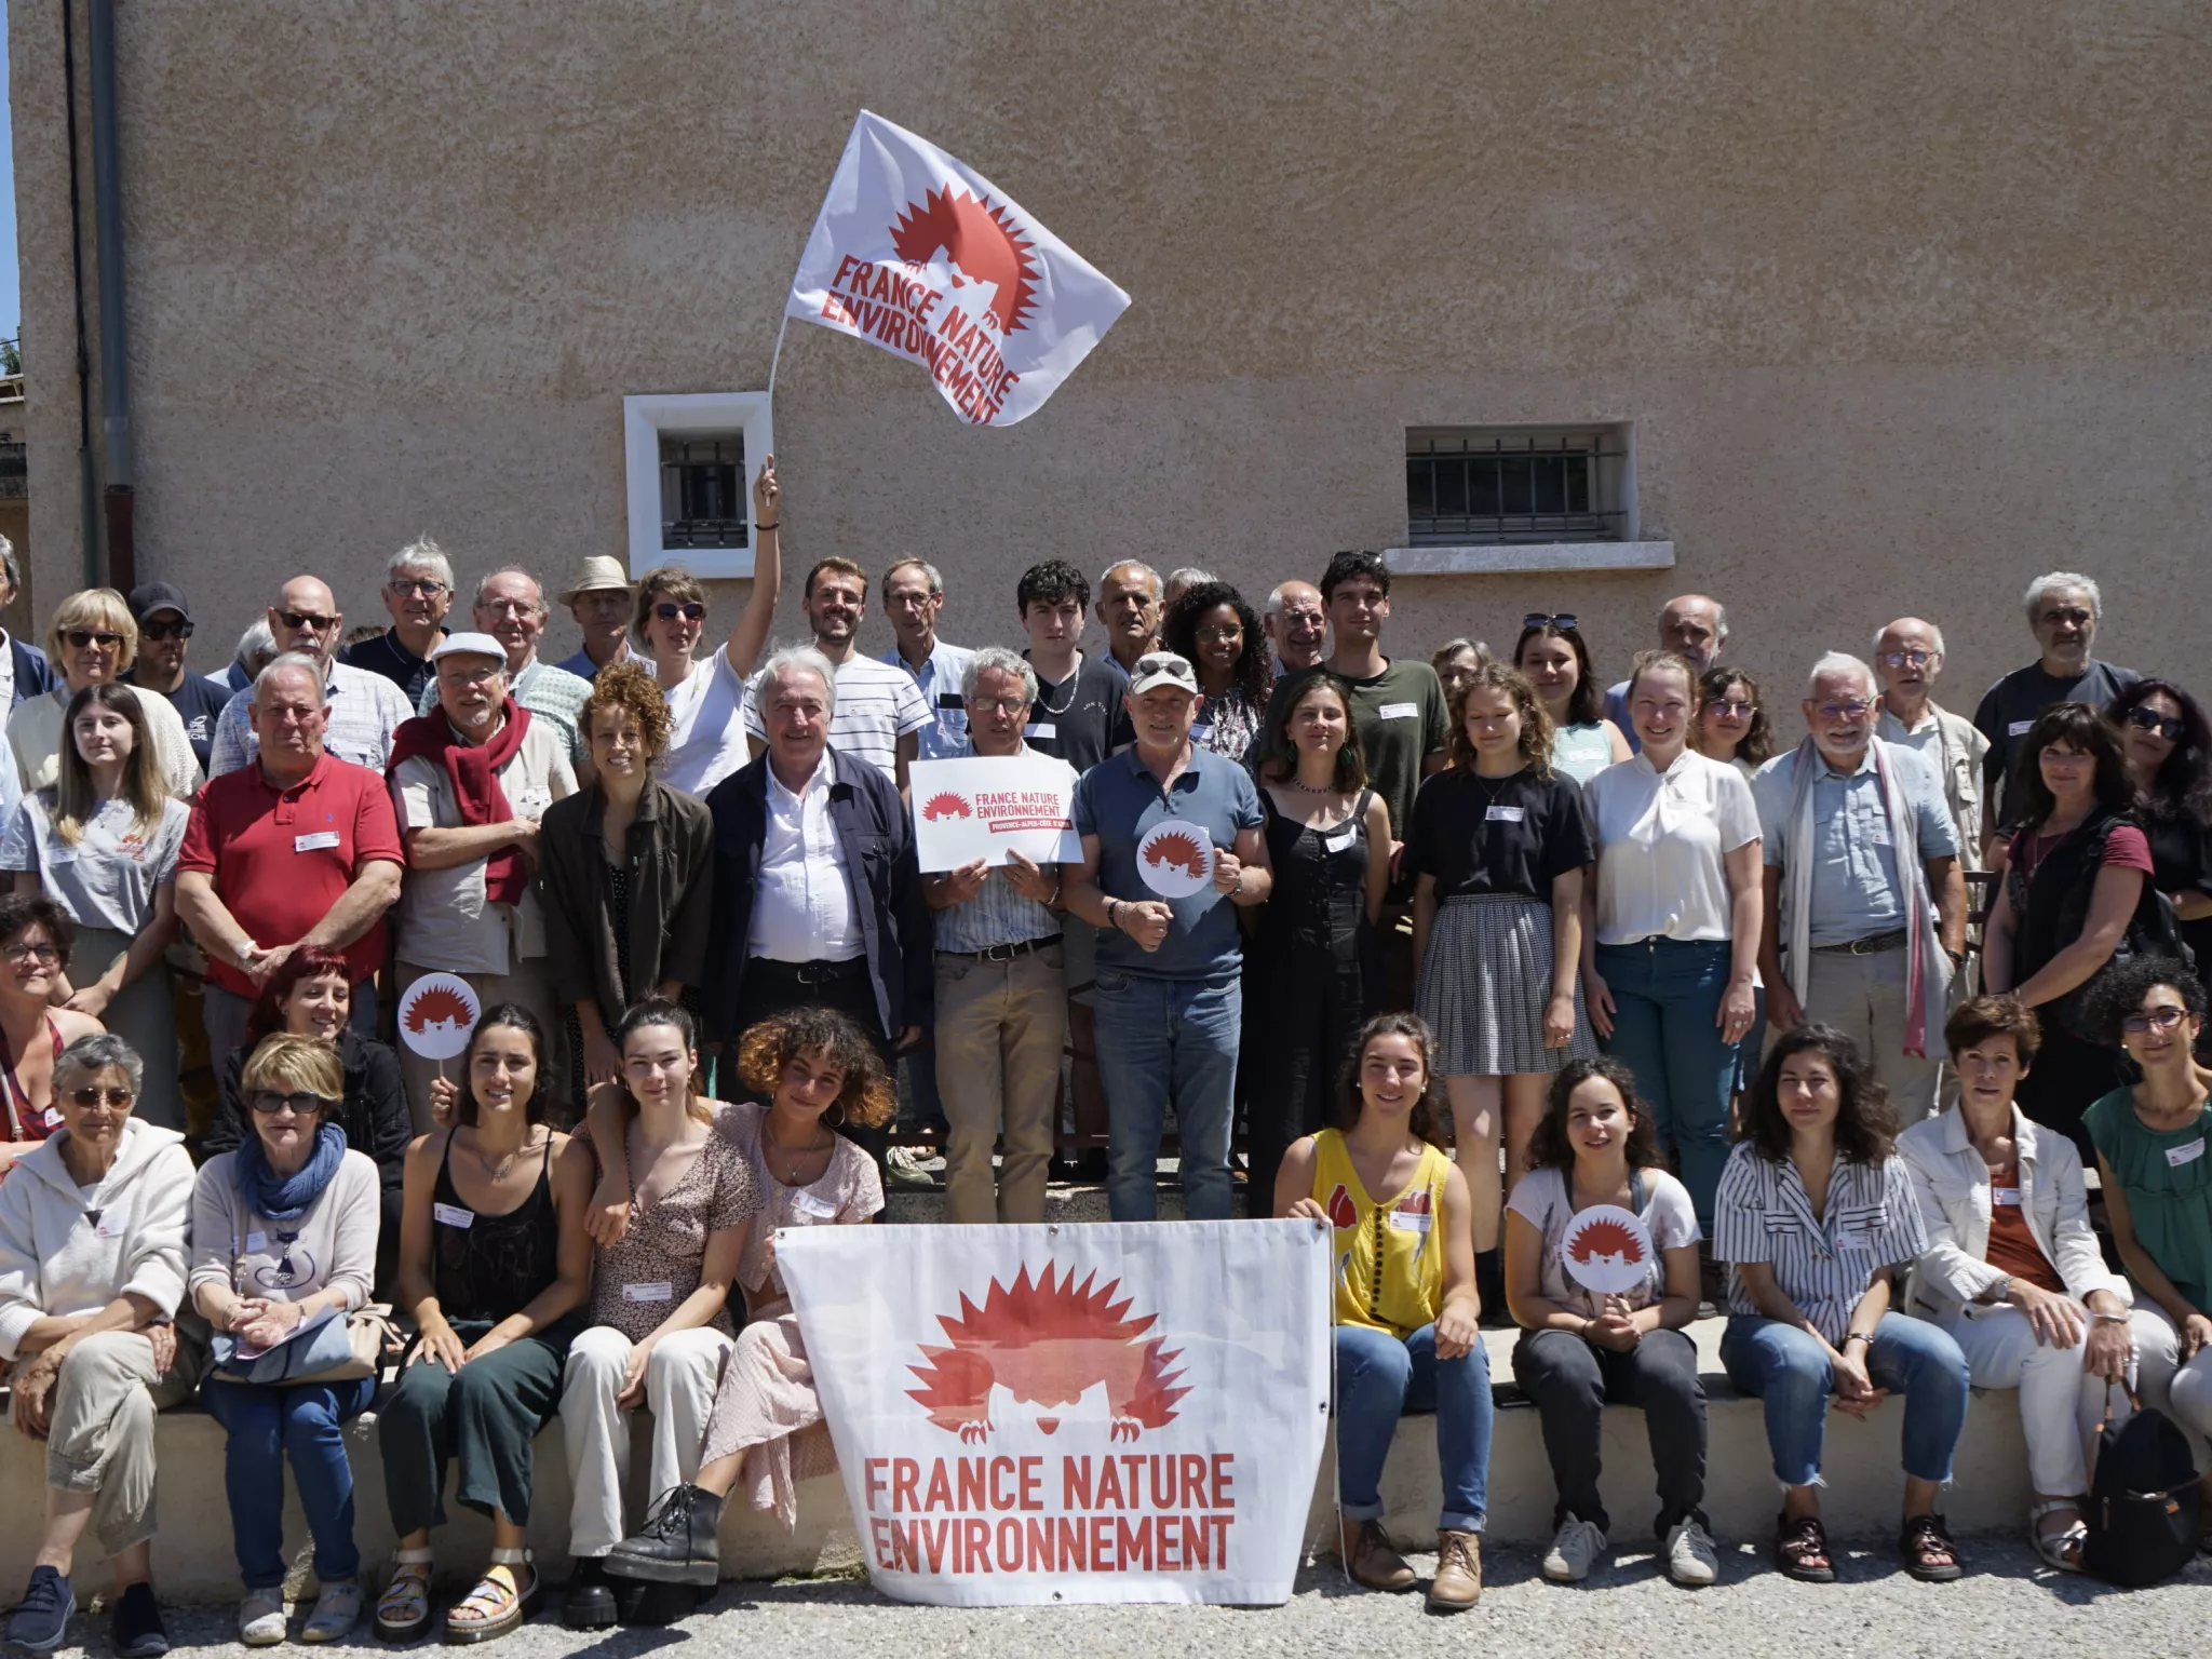
<path id="1" fill-rule="evenodd" d="M 1155 1175 L 1166 1108 L 1181 1137 L 1183 1214 L 1230 1219 L 1230 1117 L 1243 987 L 1097 971 L 1099 1082 L 1106 1086 L 1106 1206 L 1115 1221 L 1159 1214 Z"/>

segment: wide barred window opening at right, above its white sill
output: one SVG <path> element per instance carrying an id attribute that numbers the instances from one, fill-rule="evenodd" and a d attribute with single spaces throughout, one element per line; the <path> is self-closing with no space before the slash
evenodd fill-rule
<path id="1" fill-rule="evenodd" d="M 1626 458 L 1621 434 L 1606 427 L 1409 431 L 1411 544 L 1624 540 Z"/>

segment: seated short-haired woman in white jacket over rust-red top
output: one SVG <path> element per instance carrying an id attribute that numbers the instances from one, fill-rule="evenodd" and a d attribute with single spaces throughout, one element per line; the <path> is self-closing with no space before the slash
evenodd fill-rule
<path id="1" fill-rule="evenodd" d="M 2128 1287 L 2104 1265 L 2088 1225 L 2081 1155 L 2013 1099 L 2042 1029 L 2017 998 L 1973 998 L 1944 1022 L 1958 1106 L 1898 1137 L 1929 1248 L 1907 1310 L 1951 1334 L 1978 1389 L 2020 1389 L 2028 1440 L 2028 1537 L 2066 1573 L 2081 1571 L 2088 1447 L 2110 1398 L 2128 1413 L 2128 1360 L 2157 1340 L 2157 1316 L 2130 1336 Z"/>

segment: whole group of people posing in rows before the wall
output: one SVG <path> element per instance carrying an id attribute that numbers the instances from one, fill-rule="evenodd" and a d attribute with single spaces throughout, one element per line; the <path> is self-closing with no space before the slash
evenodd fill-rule
<path id="1" fill-rule="evenodd" d="M 2053 1566 L 2081 1564 L 2084 1431 L 2128 1365 L 2212 1467 L 2212 728 L 2090 655 L 2088 577 L 2028 588 L 2039 657 L 1971 721 L 1933 701 L 1940 628 L 1900 617 L 1871 661 L 1809 666 L 1781 748 L 1710 597 L 1613 686 L 1564 613 L 1394 659 L 1374 553 L 1259 606 L 1046 560 L 1022 650 L 945 641 L 925 560 L 872 593 L 825 557 L 807 639 L 770 648 L 772 460 L 752 504 L 728 635 L 684 568 L 591 557 L 557 593 L 584 648 L 549 664 L 535 575 L 482 577 L 449 628 L 422 540 L 389 628 L 347 641 L 299 575 L 228 684 L 186 668 L 170 584 L 75 593 L 46 653 L 0 650 L 0 1360 L 49 1449 L 11 1644 L 60 1644 L 93 1526 L 117 1650 L 164 1650 L 153 1413 L 195 1389 L 230 1433 L 243 1639 L 288 1635 L 279 1451 L 323 1584 L 303 1637 L 343 1637 L 343 1425 L 385 1303 L 380 1635 L 529 1617 L 555 1418 L 566 1617 L 712 1584 L 732 1491 L 790 1522 L 832 1467 L 772 1232 L 876 1217 L 900 1110 L 942 1119 L 953 1221 L 1040 1221 L 1064 1144 L 1104 1144 L 1113 1217 L 1150 1219 L 1172 1115 L 1186 1214 L 1228 1219 L 1243 1172 L 1248 1214 L 1336 1228 L 1345 1564 L 1413 1584 L 1378 1480 L 1433 1409 L 1444 1608 L 1480 1593 L 1484 1323 L 1522 1327 L 1559 1579 L 1606 1546 L 1606 1400 L 1650 1418 L 1666 1571 L 1714 1577 L 1701 1303 L 1765 1400 L 1796 1577 L 1832 1575 L 1832 1400 L 1905 1394 L 1900 1551 L 1933 1579 L 1960 1573 L 1933 1504 L 1969 1380 L 2020 1389 Z M 909 768 L 956 757 L 1062 768 L 1079 856 L 922 874 Z M 1161 825 L 1199 856 L 1172 894 L 1139 856 Z M 434 971 L 484 1009 L 458 1082 L 378 1037 Z M 1626 1294 L 1562 1265 L 1601 1203 L 1657 1245 Z M 493 1553 L 438 1615 L 451 1464 Z"/>

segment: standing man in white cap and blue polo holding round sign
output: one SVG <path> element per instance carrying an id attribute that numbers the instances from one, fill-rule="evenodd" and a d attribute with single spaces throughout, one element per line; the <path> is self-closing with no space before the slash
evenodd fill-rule
<path id="1" fill-rule="evenodd" d="M 1274 872 L 1252 774 L 1190 745 L 1203 701 L 1197 670 L 1172 650 L 1148 650 L 1126 701 L 1137 745 L 1075 785 L 1084 858 L 1064 894 L 1071 911 L 1106 929 L 1097 964 L 1113 1137 L 1106 1201 L 1115 1221 L 1157 1214 L 1152 1172 L 1172 1099 L 1186 1212 L 1223 1221 L 1243 1011 L 1230 905 L 1265 902 Z"/>

